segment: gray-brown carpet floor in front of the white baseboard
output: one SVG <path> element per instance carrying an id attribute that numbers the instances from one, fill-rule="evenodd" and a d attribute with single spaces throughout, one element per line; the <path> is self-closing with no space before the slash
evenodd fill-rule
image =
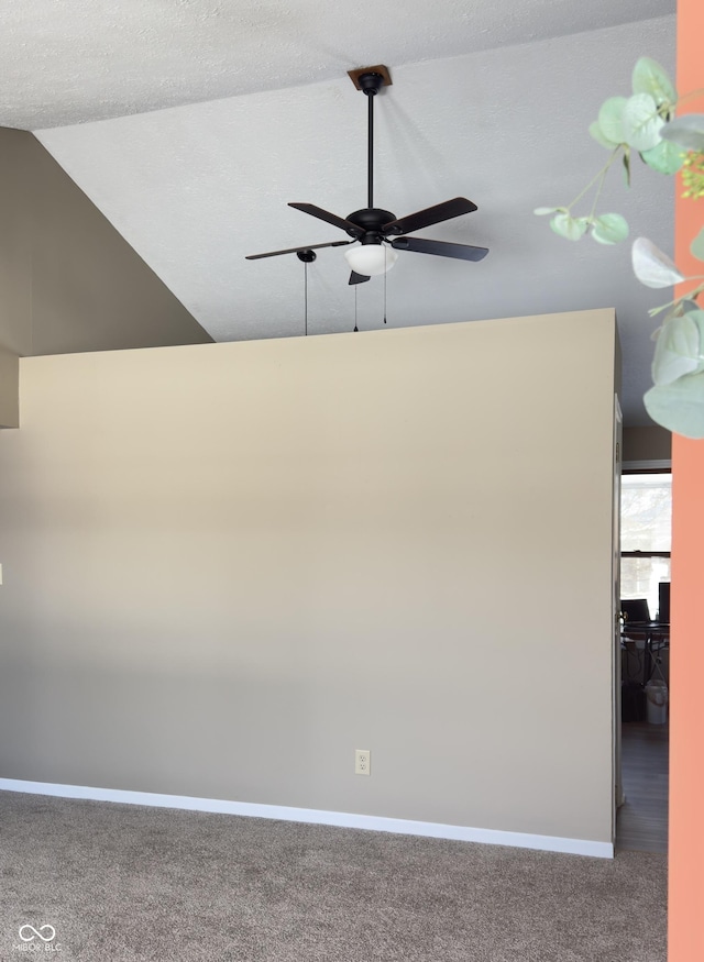
<path id="1" fill-rule="evenodd" d="M 663 962 L 666 867 L 0 792 L 0 959 Z"/>

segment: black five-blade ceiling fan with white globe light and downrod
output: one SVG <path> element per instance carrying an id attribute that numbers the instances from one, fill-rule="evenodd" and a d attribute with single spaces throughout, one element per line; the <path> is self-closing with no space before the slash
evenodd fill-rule
<path id="1" fill-rule="evenodd" d="M 446 241 L 407 236 L 409 231 L 419 231 L 431 224 L 476 210 L 476 204 L 465 197 L 454 197 L 452 200 L 436 203 L 433 207 L 403 218 L 397 218 L 389 210 L 374 207 L 374 98 L 384 85 L 391 85 L 392 79 L 388 69 L 384 66 L 350 70 L 349 76 L 358 90 L 362 90 L 367 97 L 366 207 L 342 218 L 316 207 L 315 203 L 289 203 L 288 206 L 327 221 L 336 228 L 341 228 L 352 240 L 331 241 L 327 244 L 307 244 L 301 247 L 288 247 L 285 251 L 270 251 L 266 254 L 250 254 L 246 259 L 257 261 L 261 257 L 276 257 L 279 254 L 298 254 L 320 247 L 340 247 L 354 244 L 355 246 L 350 247 L 344 253 L 345 259 L 352 268 L 350 284 L 362 284 L 374 275 L 385 274 L 398 257 L 397 251 L 416 251 L 418 254 L 436 254 L 439 257 L 455 257 L 460 261 L 481 261 L 488 254 L 487 247 L 473 247 L 470 244 L 451 244 Z"/>

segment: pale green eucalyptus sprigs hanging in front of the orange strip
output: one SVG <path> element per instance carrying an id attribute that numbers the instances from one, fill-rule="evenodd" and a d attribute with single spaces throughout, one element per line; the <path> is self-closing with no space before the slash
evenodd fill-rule
<path id="1" fill-rule="evenodd" d="M 569 241 L 588 234 L 601 244 L 617 244 L 628 236 L 628 224 L 622 214 L 597 213 L 604 179 L 618 159 L 628 185 L 631 161 L 638 155 L 660 174 L 682 170 L 684 197 L 693 200 L 704 197 L 704 114 L 675 117 L 678 104 L 688 98 L 678 99 L 667 71 L 649 57 L 640 57 L 636 63 L 631 80 L 631 96 L 609 97 L 590 125 L 590 134 L 609 151 L 606 164 L 571 203 L 539 207 L 535 211 L 550 215 L 552 230 Z M 574 207 L 592 188 L 590 212 L 575 215 Z M 704 229 L 690 250 L 704 263 Z M 647 287 L 694 283 L 685 295 L 650 311 L 651 316 L 667 313 L 653 334 L 653 386 L 644 401 L 657 423 L 688 438 L 704 438 L 704 310 L 697 302 L 704 292 L 704 273 L 684 277 L 667 254 L 646 237 L 634 241 L 632 266 L 638 280 Z"/>

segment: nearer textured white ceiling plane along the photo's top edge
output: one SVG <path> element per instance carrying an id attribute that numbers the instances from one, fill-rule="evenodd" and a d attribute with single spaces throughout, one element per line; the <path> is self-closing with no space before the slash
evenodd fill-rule
<path id="1" fill-rule="evenodd" d="M 143 113 L 673 12 L 674 0 L 6 0 L 0 125 Z"/>

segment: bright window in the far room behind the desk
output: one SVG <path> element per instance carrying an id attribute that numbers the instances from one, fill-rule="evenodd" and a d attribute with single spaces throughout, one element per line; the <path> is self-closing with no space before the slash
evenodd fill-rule
<path id="1" fill-rule="evenodd" d="M 658 613 L 658 584 L 670 580 L 672 475 L 624 474 L 620 495 L 620 596 L 647 598 Z"/>

